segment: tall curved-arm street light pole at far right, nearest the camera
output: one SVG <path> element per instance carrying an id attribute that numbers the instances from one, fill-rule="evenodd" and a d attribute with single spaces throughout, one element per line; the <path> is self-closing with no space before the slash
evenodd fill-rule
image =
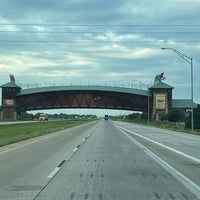
<path id="1" fill-rule="evenodd" d="M 191 66 L 191 131 L 193 132 L 194 130 L 194 105 L 193 105 L 193 60 L 192 58 L 186 56 L 185 54 L 181 53 L 180 51 L 177 51 L 176 49 L 173 48 L 161 48 L 162 50 L 171 50 L 175 52 L 178 56 L 183 58 L 187 63 L 190 64 Z"/>

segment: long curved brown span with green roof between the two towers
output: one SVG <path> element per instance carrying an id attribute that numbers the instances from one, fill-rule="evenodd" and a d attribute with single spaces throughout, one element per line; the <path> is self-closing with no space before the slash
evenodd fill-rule
<path id="1" fill-rule="evenodd" d="M 148 91 L 108 86 L 54 86 L 21 89 L 18 112 L 58 108 L 98 108 L 146 111 Z"/>

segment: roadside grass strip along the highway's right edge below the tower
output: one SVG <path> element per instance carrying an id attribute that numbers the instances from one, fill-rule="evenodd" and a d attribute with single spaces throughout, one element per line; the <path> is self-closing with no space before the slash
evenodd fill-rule
<path id="1" fill-rule="evenodd" d="M 195 129 L 193 132 L 191 132 L 191 129 L 185 128 L 185 126 L 181 123 L 170 123 L 170 122 L 164 122 L 164 121 L 151 121 L 149 124 L 147 121 L 144 120 L 125 120 L 129 123 L 135 123 L 145 126 L 152 126 L 177 132 L 184 132 L 188 134 L 194 134 L 194 135 L 200 135 L 200 130 Z"/>

